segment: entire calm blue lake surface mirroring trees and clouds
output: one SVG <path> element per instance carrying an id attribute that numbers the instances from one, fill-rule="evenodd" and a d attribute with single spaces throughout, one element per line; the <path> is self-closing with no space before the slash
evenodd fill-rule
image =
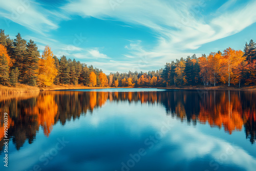
<path id="1" fill-rule="evenodd" d="M 0 111 L 0 170 L 256 170 L 256 92 L 49 91 Z"/>

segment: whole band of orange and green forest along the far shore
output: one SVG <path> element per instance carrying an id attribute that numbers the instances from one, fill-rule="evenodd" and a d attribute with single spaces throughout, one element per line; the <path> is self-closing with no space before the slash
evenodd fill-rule
<path id="1" fill-rule="evenodd" d="M 163 69 L 148 72 L 110 73 L 66 56 L 57 57 L 49 46 L 40 55 L 33 40 L 18 33 L 11 39 L 0 29 L 0 84 L 15 87 L 81 85 L 87 87 L 183 87 L 254 86 L 256 83 L 256 43 L 250 40 L 244 50 L 195 54 L 167 62 Z"/>

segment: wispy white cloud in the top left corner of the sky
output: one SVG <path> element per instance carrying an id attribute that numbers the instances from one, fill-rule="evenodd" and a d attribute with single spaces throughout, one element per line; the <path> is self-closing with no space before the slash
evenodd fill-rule
<path id="1" fill-rule="evenodd" d="M 1 1 L 0 15 L 7 18 L 5 20 L 8 27 L 12 21 L 41 34 L 44 34 L 44 32 L 50 29 L 58 28 L 58 25 L 52 21 L 53 17 L 59 19 L 66 18 L 57 12 L 54 12 L 53 15 L 53 12 L 40 7 L 33 0 Z"/>

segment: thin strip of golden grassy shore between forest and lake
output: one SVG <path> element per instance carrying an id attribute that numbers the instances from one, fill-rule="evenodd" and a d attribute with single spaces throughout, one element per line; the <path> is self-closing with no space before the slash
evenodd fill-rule
<path id="1" fill-rule="evenodd" d="M 27 86 L 25 84 L 17 84 L 16 87 L 0 86 L 0 94 L 12 94 L 12 93 L 29 93 L 39 91 L 55 91 L 55 90 L 79 90 L 79 89 L 132 89 L 134 87 L 86 87 L 86 86 L 56 86 L 53 85 L 47 88 L 38 88 L 35 86 Z M 164 90 L 236 90 L 236 91 L 256 91 L 255 86 L 250 87 L 135 87 L 135 89 L 164 89 Z"/>

